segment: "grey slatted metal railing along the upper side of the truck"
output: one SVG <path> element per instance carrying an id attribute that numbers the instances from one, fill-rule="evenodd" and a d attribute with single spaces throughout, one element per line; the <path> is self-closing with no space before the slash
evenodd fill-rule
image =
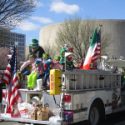
<path id="1" fill-rule="evenodd" d="M 121 75 L 101 70 L 66 71 L 62 76 L 64 90 L 112 89 L 121 86 Z"/>

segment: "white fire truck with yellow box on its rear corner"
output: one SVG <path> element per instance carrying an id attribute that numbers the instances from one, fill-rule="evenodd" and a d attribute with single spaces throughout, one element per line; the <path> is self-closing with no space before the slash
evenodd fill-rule
<path id="1" fill-rule="evenodd" d="M 3 120 L 32 124 L 73 124 L 88 121 L 89 125 L 98 125 L 106 115 L 125 110 L 125 89 L 122 74 L 114 71 L 65 70 L 50 71 L 50 90 L 42 91 L 44 104 L 47 104 L 54 116 L 48 121 L 30 119 Z M 33 90 L 28 90 L 32 93 Z"/>

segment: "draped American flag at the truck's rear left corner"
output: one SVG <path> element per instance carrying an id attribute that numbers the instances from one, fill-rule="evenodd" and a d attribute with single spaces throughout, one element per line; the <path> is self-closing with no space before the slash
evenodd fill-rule
<path id="1" fill-rule="evenodd" d="M 7 85 L 7 107 L 6 112 L 12 113 L 13 107 L 17 104 L 18 100 L 21 99 L 19 89 L 19 79 L 17 76 L 17 58 L 16 58 L 16 48 L 14 47 L 12 51 L 11 58 L 7 65 L 4 73 L 3 81 Z"/>

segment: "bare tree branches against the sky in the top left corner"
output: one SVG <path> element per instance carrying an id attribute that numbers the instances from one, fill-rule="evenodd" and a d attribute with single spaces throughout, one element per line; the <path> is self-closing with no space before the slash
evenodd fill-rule
<path id="1" fill-rule="evenodd" d="M 0 26 L 14 27 L 30 15 L 36 0 L 0 0 Z"/>

